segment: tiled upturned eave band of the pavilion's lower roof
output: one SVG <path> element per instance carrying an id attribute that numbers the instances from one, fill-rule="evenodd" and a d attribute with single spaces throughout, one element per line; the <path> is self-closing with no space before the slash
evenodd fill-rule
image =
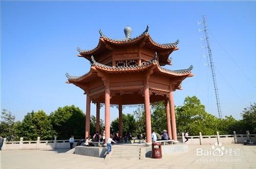
<path id="1" fill-rule="evenodd" d="M 191 77 L 191 76 L 194 76 L 193 74 L 191 74 L 191 70 L 193 69 L 193 66 L 189 66 L 189 68 L 187 68 L 187 69 L 180 69 L 180 70 L 169 70 L 169 69 L 161 67 L 157 61 L 157 54 L 151 61 L 149 61 L 143 65 L 130 66 L 130 67 L 107 66 L 107 65 L 96 62 L 94 60 L 94 57 L 92 56 L 91 70 L 87 74 L 84 74 L 82 76 L 70 76 L 69 74 L 66 74 L 66 76 L 68 78 L 67 83 L 88 82 L 88 81 L 94 80 L 96 77 L 98 77 L 97 69 L 105 71 L 106 73 L 109 73 L 109 74 L 132 73 L 132 72 L 143 71 L 143 70 L 150 68 L 154 65 L 155 65 L 155 67 L 153 68 L 154 73 L 164 74 L 169 77 Z"/>

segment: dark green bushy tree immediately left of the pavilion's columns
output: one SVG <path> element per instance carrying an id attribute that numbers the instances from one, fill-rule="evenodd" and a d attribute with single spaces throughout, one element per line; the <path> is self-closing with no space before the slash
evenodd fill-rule
<path id="1" fill-rule="evenodd" d="M 85 115 L 78 107 L 59 107 L 50 114 L 50 119 L 58 139 L 68 139 L 70 135 L 74 135 L 74 138 L 84 137 Z"/>

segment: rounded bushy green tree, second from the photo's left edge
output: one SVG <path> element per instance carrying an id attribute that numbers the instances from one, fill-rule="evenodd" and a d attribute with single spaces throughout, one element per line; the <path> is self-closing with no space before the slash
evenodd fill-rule
<path id="1" fill-rule="evenodd" d="M 55 135 L 49 116 L 42 110 L 25 115 L 22 123 L 17 124 L 16 131 L 24 140 L 36 140 L 37 137 L 48 140 Z"/>

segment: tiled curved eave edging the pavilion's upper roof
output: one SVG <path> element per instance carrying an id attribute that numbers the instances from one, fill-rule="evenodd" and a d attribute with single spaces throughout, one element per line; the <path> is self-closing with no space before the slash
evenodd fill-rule
<path id="1" fill-rule="evenodd" d="M 92 50 L 80 50 L 79 51 L 79 57 L 91 57 L 91 55 L 97 55 L 97 53 L 101 53 L 102 51 L 109 50 L 108 47 L 106 47 L 106 44 L 110 44 L 113 46 L 125 46 L 125 45 L 133 45 L 138 44 L 141 41 L 145 41 L 145 47 L 148 47 L 150 49 L 157 50 L 178 50 L 177 44 L 178 41 L 175 43 L 168 43 L 168 44 L 160 44 L 155 42 L 151 36 L 148 33 L 141 34 L 138 37 L 132 38 L 132 39 L 122 39 L 122 40 L 115 40 L 106 36 L 101 36 L 99 38 L 98 45 L 92 49 Z"/>

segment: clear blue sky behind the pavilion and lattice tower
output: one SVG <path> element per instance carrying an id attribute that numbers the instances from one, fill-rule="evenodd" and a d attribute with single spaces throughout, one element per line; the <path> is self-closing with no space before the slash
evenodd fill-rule
<path id="1" fill-rule="evenodd" d="M 206 15 L 222 114 L 239 119 L 243 108 L 256 101 L 255 7 L 255 2 L 1 2 L 2 108 L 17 120 L 32 110 L 49 114 L 72 104 L 85 111 L 86 95 L 65 83 L 66 73 L 80 76 L 90 70 L 89 62 L 76 56 L 76 47 L 96 47 L 99 29 L 119 39 L 126 26 L 134 37 L 150 25 L 156 42 L 180 40 L 173 65 L 166 68 L 194 66 L 195 76 L 174 93 L 176 106 L 196 95 L 208 112 L 218 115 L 197 25 Z M 95 109 L 92 105 L 91 114 Z M 112 108 L 111 119 L 117 115 Z"/>

